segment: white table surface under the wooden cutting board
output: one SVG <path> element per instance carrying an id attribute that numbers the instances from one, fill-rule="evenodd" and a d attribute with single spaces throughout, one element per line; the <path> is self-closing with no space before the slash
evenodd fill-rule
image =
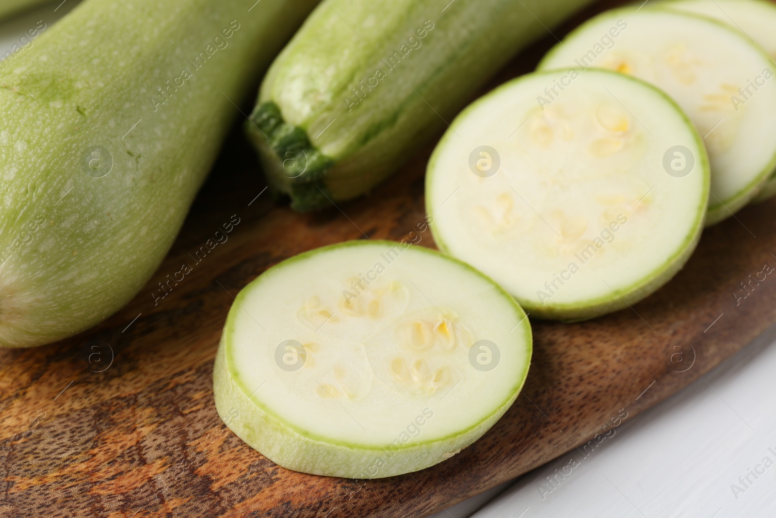
<path id="1" fill-rule="evenodd" d="M 0 24 L 0 50 L 38 20 L 50 25 L 77 4 L 59 0 Z M 572 456 L 580 465 L 549 492 L 547 477 Z M 774 465 L 764 468 L 765 457 Z M 755 468 L 764 474 L 749 475 Z M 742 483 L 747 475 L 751 483 Z M 734 494 L 733 485 L 743 491 Z M 776 518 L 776 330 L 619 426 L 589 457 L 562 455 L 432 518 L 468 516 Z"/>

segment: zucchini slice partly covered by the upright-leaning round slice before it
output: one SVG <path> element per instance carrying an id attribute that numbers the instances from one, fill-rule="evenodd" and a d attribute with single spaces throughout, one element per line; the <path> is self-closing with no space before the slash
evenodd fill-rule
<path id="1" fill-rule="evenodd" d="M 627 28 L 610 37 L 607 48 L 601 37 L 618 20 Z M 574 30 L 539 69 L 579 66 L 577 61 L 650 82 L 688 113 L 712 165 L 707 225 L 730 217 L 767 182 L 776 164 L 774 67 L 737 30 L 669 9 L 615 9 Z M 761 84 L 746 100 L 739 89 L 750 81 Z"/>

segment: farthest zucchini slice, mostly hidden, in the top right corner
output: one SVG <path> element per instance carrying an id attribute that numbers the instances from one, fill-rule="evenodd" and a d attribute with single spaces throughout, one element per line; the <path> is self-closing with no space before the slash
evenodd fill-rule
<path id="1" fill-rule="evenodd" d="M 771 60 L 776 57 L 776 5 L 765 0 L 678 0 L 665 2 L 664 7 L 709 16 L 743 32 L 763 47 Z M 753 203 L 776 194 L 776 178 L 771 173 L 765 186 L 754 196 Z"/>

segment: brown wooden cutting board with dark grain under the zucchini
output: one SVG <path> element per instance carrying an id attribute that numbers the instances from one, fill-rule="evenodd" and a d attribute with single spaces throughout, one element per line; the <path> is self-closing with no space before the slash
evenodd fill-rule
<path id="1" fill-rule="evenodd" d="M 554 41 L 536 44 L 492 85 L 531 70 Z M 582 445 L 776 322 L 776 280 L 764 273 L 776 265 L 771 201 L 705 231 L 681 273 L 632 309 L 573 325 L 532 322 L 522 394 L 449 461 L 374 481 L 279 468 L 226 429 L 213 406 L 213 357 L 232 299 L 296 253 L 407 237 L 424 217 L 430 151 L 368 199 L 300 215 L 262 190 L 235 130 L 168 258 L 126 308 L 64 342 L 0 351 L 0 516 L 425 516 L 574 447 L 594 451 Z M 158 282 L 230 220 L 238 223 L 227 241 L 154 303 Z M 428 231 L 421 245 L 433 246 Z"/>

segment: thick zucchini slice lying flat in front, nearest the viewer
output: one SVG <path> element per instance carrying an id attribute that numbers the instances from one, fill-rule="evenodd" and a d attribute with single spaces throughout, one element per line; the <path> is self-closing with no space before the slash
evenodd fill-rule
<path id="1" fill-rule="evenodd" d="M 372 281 L 357 290 L 359 275 Z M 492 370 L 469 360 L 482 339 L 501 355 Z M 289 356 L 298 370 L 276 360 L 286 340 L 304 346 Z M 525 313 L 476 270 L 407 243 L 345 242 L 241 291 L 213 388 L 230 429 L 284 468 L 381 478 L 473 443 L 514 402 L 531 353 Z"/>

